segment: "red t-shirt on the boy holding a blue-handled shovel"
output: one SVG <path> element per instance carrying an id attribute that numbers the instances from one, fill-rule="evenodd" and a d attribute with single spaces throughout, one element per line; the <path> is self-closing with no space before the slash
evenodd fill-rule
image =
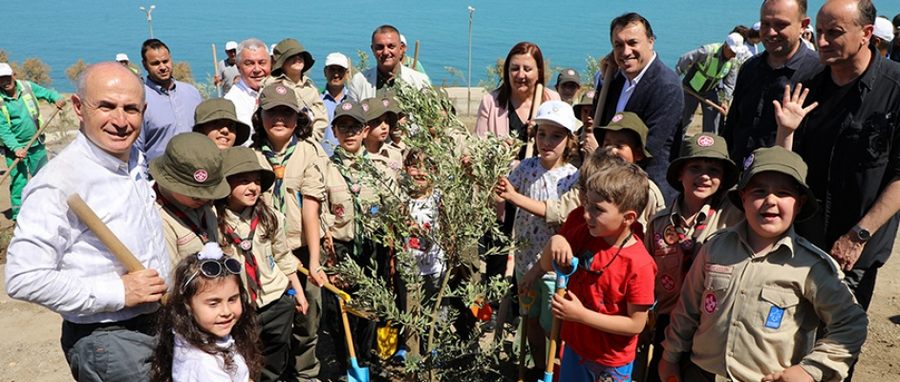
<path id="1" fill-rule="evenodd" d="M 573 211 L 575 212 L 575 211 Z M 580 224 L 570 224 L 578 219 Z M 600 271 L 615 256 L 618 246 L 611 246 L 600 237 L 591 236 L 581 215 L 569 215 L 559 234 L 572 246 L 572 253 L 591 264 L 581 264 L 569 278 L 568 289 L 586 308 L 611 316 L 628 315 L 628 304 L 653 305 L 656 263 L 644 243 L 636 242 L 622 248 L 602 275 Z M 588 267 L 585 269 L 585 267 Z M 603 366 L 618 367 L 634 360 L 637 336 L 620 336 L 593 329 L 587 325 L 563 322 L 562 339 L 579 356 Z"/>

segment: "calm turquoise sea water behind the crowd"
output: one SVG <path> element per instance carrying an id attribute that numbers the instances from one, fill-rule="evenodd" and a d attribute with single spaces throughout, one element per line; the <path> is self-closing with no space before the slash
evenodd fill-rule
<path id="1" fill-rule="evenodd" d="M 638 12 L 656 34 L 659 58 L 674 67 L 678 57 L 700 45 L 722 42 L 738 24 L 759 19 L 759 0 L 399 0 L 399 1 L 42 1 L 3 0 L 0 49 L 11 61 L 37 57 L 51 68 L 52 86 L 72 91 L 65 69 L 78 59 L 113 60 L 126 53 L 140 67 L 141 43 L 153 35 L 171 49 L 173 59 L 190 64 L 195 80 L 213 74 L 211 44 L 225 57 L 228 40 L 257 37 L 267 44 L 299 40 L 317 62 L 308 74 L 321 86 L 325 56 L 342 52 L 354 62 L 369 53 L 372 30 L 396 26 L 409 41 L 412 56 L 420 41 L 419 60 L 435 85 L 465 86 L 472 14 L 472 86 L 487 78 L 488 66 L 503 59 L 519 41 L 537 43 L 551 68 L 586 68 L 588 56 L 610 52 L 609 23 L 625 12 Z M 875 5 L 898 8 L 891 1 Z M 809 2 L 813 19 L 822 0 Z M 893 15 L 900 9 L 879 8 Z M 760 46 L 761 49 L 761 46 Z M 447 69 L 451 68 L 451 69 Z M 555 78 L 549 82 L 555 84 Z"/>

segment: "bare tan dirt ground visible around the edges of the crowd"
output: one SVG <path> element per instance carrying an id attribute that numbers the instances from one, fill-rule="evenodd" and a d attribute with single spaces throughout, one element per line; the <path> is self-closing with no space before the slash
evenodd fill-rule
<path id="1" fill-rule="evenodd" d="M 457 90 L 465 104 L 465 89 Z M 473 92 L 475 93 L 475 92 Z M 454 93 L 451 91 L 451 96 Z M 460 98 L 457 98 L 460 100 Z M 473 94 L 473 101 L 481 99 L 481 92 Z M 477 104 L 472 108 L 477 110 Z M 458 110 L 464 110 L 458 108 Z M 50 115 L 45 111 L 44 115 Z M 467 118 L 471 121 L 471 118 Z M 65 130 L 71 130 L 70 125 Z M 58 152 L 61 142 L 71 135 L 56 132 L 48 140 L 51 152 Z M 4 162 L 5 163 L 5 162 Z M 5 168 L 5 166 L 3 166 Z M 2 173 L 2 172 L 0 172 Z M 8 186 L 0 186 L 0 211 L 9 209 Z M 8 216 L 8 215 L 7 215 Z M 12 235 L 12 222 L 0 216 L 0 382 L 6 381 L 71 381 L 65 357 L 60 350 L 61 318 L 43 307 L 12 300 L 6 295 L 5 247 Z M 895 243 L 895 248 L 898 248 Z M 895 249 L 895 251 L 897 251 Z M 896 255 L 894 257 L 897 257 Z M 875 297 L 869 308 L 869 337 L 863 346 L 856 369 L 857 381 L 900 381 L 900 259 L 891 259 L 879 271 Z M 332 363 L 333 364 L 333 363 Z"/>

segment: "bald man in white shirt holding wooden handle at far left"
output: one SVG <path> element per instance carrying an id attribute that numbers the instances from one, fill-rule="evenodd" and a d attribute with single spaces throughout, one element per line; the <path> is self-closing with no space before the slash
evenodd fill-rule
<path id="1" fill-rule="evenodd" d="M 25 188 L 6 265 L 10 297 L 63 317 L 62 347 L 78 381 L 145 381 L 169 260 L 143 153 L 140 80 L 105 62 L 72 96 L 75 140 Z M 127 273 L 69 210 L 78 194 L 146 268 Z"/>

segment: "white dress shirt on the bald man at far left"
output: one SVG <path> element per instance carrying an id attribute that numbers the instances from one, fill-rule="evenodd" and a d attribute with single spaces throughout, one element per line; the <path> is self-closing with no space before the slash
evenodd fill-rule
<path id="1" fill-rule="evenodd" d="M 168 284 L 162 223 L 146 174 L 137 148 L 125 163 L 79 132 L 25 187 L 7 252 L 7 293 L 79 324 L 156 311 L 155 303 L 125 308 L 125 267 L 66 204 L 69 195 L 80 195 L 138 261 Z"/>

